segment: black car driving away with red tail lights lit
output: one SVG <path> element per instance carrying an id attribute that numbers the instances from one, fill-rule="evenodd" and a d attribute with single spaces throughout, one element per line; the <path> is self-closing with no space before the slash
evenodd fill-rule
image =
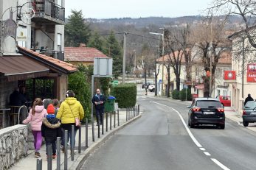
<path id="1" fill-rule="evenodd" d="M 225 113 L 221 102 L 215 98 L 193 99 L 188 111 L 188 125 L 190 128 L 201 124 L 215 124 L 225 129 Z"/>

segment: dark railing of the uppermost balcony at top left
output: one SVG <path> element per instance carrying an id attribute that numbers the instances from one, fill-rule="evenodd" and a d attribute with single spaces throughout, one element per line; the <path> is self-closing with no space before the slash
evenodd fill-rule
<path id="1" fill-rule="evenodd" d="M 35 0 L 35 18 L 44 16 L 65 21 L 65 8 L 49 0 Z"/>

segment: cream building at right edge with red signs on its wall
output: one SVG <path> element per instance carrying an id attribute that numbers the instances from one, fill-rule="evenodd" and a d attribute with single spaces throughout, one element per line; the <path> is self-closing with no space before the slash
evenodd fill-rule
<path id="1" fill-rule="evenodd" d="M 251 35 L 256 34 L 256 26 L 249 28 Z M 232 88 L 232 107 L 239 111 L 243 109 L 243 102 L 248 93 L 256 99 L 256 51 L 249 43 L 245 30 L 229 35 L 232 40 L 232 71 L 234 79 L 226 79 L 226 83 Z"/>

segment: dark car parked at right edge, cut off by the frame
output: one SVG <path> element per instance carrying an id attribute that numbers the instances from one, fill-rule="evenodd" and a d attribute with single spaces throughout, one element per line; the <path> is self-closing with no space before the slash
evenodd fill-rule
<path id="1" fill-rule="evenodd" d="M 243 107 L 243 126 L 248 127 L 249 123 L 254 122 L 256 122 L 256 101 L 249 101 Z"/>

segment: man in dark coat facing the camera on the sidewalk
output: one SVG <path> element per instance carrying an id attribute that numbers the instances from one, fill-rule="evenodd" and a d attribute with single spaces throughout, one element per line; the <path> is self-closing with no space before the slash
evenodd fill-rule
<path id="1" fill-rule="evenodd" d="M 100 93 L 99 88 L 97 88 L 96 94 L 91 99 L 91 102 L 94 104 L 94 107 L 95 107 L 97 125 L 102 124 L 103 123 L 103 115 L 104 115 L 105 96 Z"/>

